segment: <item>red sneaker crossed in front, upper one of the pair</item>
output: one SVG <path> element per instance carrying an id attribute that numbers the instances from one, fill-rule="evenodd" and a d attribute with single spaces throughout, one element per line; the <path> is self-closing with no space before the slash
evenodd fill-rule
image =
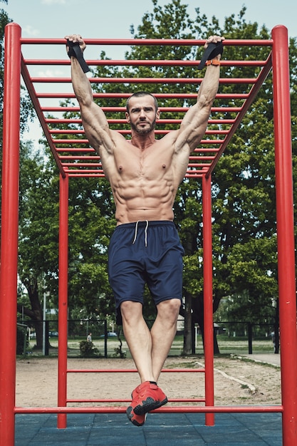
<path id="1" fill-rule="evenodd" d="M 144 415 L 168 402 L 165 393 L 156 384 L 145 381 L 132 391 L 132 407 L 136 415 Z"/>

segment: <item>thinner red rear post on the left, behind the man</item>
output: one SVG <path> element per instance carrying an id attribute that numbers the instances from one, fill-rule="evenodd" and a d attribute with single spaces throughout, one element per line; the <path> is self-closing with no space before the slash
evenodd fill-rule
<path id="1" fill-rule="evenodd" d="M 68 342 L 68 175 L 60 175 L 60 229 L 58 278 L 58 406 L 65 407 L 67 399 L 67 342 Z M 58 428 L 67 425 L 66 414 L 58 414 Z"/>

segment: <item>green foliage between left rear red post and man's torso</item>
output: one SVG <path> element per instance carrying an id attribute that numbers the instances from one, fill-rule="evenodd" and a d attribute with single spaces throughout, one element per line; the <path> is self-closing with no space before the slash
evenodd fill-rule
<path id="1" fill-rule="evenodd" d="M 75 179 L 70 184 L 69 304 L 87 313 L 113 315 L 108 284 L 108 244 L 115 228 L 107 180 Z"/>

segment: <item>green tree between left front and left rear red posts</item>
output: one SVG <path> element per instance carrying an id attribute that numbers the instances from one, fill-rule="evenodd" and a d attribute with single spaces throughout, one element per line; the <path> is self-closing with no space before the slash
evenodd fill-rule
<path id="1" fill-rule="evenodd" d="M 19 199 L 19 279 L 29 305 L 18 303 L 19 313 L 36 329 L 41 348 L 44 294 L 56 301 L 58 277 L 58 177 L 53 162 L 38 155 L 31 142 L 21 144 Z"/>

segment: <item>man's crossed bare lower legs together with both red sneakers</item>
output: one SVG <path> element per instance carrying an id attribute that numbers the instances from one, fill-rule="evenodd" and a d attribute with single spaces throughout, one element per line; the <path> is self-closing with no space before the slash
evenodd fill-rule
<path id="1" fill-rule="evenodd" d="M 132 392 L 127 416 L 135 425 L 142 425 L 150 410 L 167 403 L 167 397 L 156 385 L 177 330 L 179 299 L 157 305 L 157 318 L 152 331 L 142 316 L 142 304 L 126 301 L 121 304 L 123 330 L 142 384 Z"/>

